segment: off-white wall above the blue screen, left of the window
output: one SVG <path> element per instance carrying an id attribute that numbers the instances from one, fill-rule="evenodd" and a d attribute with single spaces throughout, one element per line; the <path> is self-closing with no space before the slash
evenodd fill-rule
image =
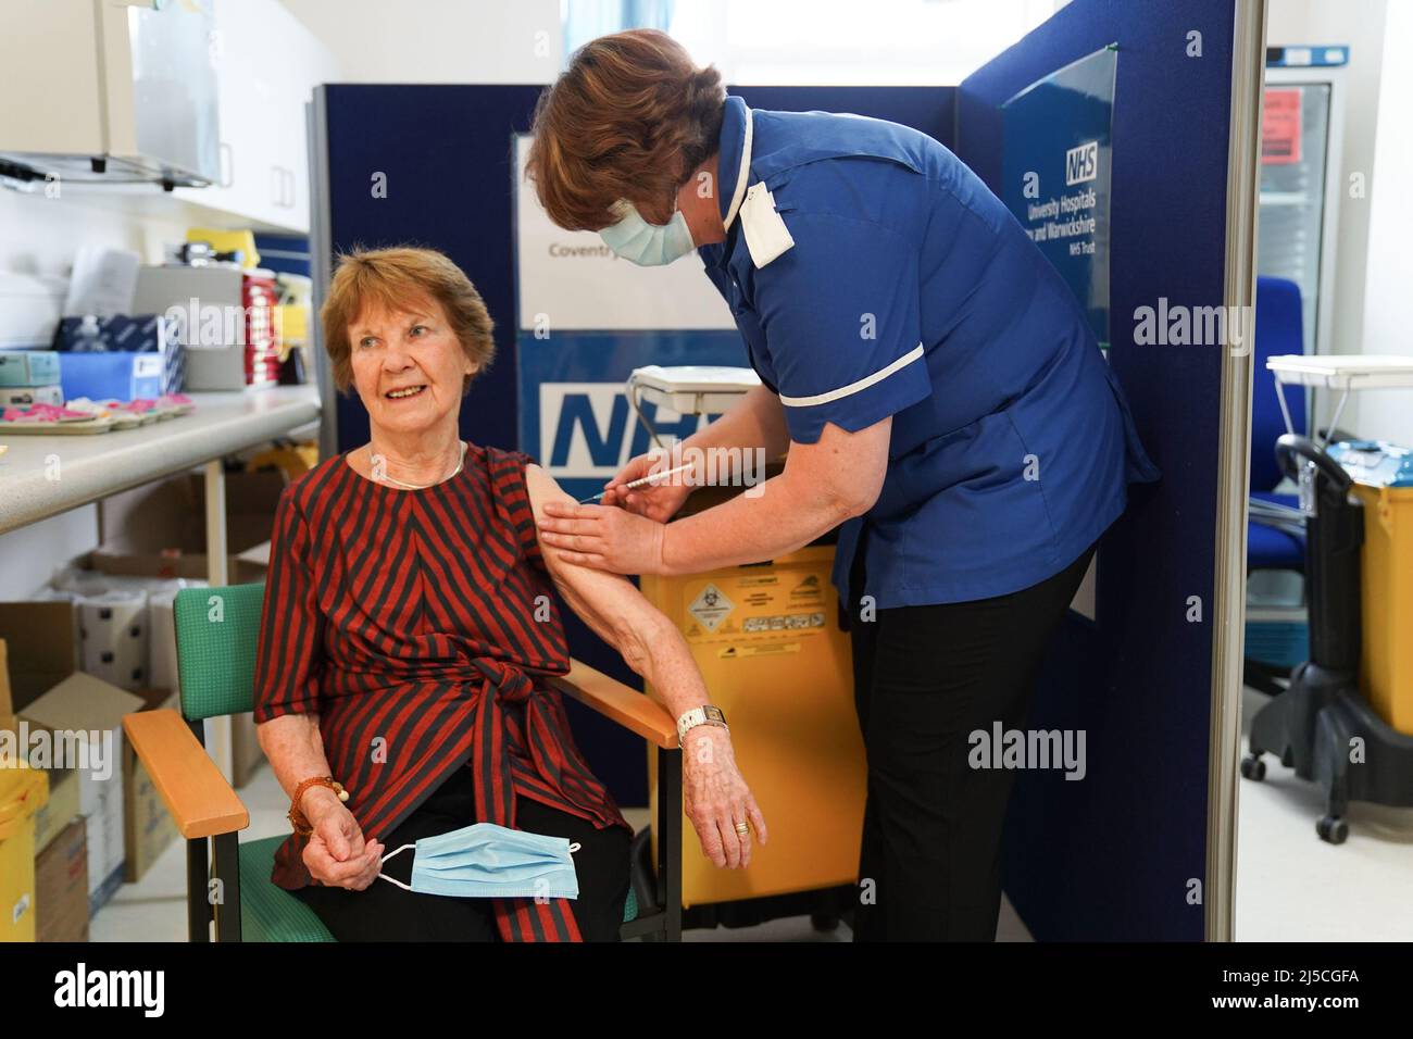
<path id="1" fill-rule="evenodd" d="M 284 0 L 350 83 L 548 83 L 560 0 Z"/>

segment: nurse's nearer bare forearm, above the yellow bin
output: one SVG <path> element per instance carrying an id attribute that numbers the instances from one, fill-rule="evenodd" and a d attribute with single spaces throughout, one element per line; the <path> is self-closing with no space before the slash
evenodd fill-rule
<path id="1" fill-rule="evenodd" d="M 759 496 L 736 495 L 663 530 L 667 574 L 699 574 L 740 563 L 763 563 L 832 530 L 866 509 L 828 488 L 791 481 L 787 474 L 760 485 Z"/>

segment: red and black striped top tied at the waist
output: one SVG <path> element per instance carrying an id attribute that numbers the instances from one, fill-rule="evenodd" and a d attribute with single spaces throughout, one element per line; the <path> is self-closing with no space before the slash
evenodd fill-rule
<path id="1" fill-rule="evenodd" d="M 332 775 L 365 837 L 386 840 L 455 769 L 476 818 L 516 823 L 516 797 L 632 831 L 589 772 L 547 676 L 569 670 L 519 451 L 469 445 L 421 491 L 359 475 L 346 454 L 285 488 L 256 657 L 254 720 L 317 711 Z M 312 882 L 304 840 L 271 879 Z M 497 899 L 504 940 L 578 940 L 564 899 Z"/>

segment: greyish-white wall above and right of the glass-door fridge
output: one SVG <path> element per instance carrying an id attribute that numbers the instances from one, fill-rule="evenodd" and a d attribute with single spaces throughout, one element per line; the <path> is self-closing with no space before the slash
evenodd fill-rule
<path id="1" fill-rule="evenodd" d="M 1393 7 L 1406 7 L 1406 0 Z M 1365 346 L 1364 315 L 1368 283 L 1369 218 L 1375 136 L 1386 131 L 1379 123 L 1379 99 L 1385 57 L 1386 0 L 1269 0 L 1266 7 L 1266 42 L 1272 47 L 1294 44 L 1345 44 L 1349 65 L 1345 68 L 1345 133 L 1341 170 L 1331 171 L 1342 184 L 1338 233 L 1334 242 L 1337 269 L 1332 300 L 1331 339 L 1334 353 L 1373 352 Z M 1406 62 L 1407 58 L 1403 57 Z M 1396 109 L 1397 106 L 1389 106 Z M 1361 172 L 1368 195 L 1349 196 L 1349 177 Z M 1316 420 L 1330 420 L 1334 394 L 1317 394 Z M 1351 397 L 1340 418 L 1347 430 L 1359 430 L 1359 409 L 1365 401 Z"/>

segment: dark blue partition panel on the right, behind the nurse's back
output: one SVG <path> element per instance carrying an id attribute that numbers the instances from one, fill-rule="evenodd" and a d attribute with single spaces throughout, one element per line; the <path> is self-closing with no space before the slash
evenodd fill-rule
<path id="1" fill-rule="evenodd" d="M 958 89 L 957 153 L 998 195 L 999 106 L 1118 42 L 1109 362 L 1163 471 L 1101 546 L 1031 729 L 1084 729 L 1088 775 L 1023 772 L 1005 886 L 1040 940 L 1200 940 L 1222 348 L 1135 345 L 1140 307 L 1222 303 L 1232 0 L 1074 0 Z"/>

